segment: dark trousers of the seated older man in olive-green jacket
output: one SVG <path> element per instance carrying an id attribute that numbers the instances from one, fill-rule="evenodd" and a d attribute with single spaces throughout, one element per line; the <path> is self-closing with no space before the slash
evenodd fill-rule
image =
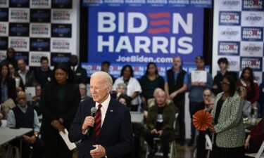
<path id="1" fill-rule="evenodd" d="M 156 134 L 152 134 L 149 129 L 147 129 L 144 133 L 144 138 L 146 140 L 146 143 L 149 144 L 149 146 L 154 146 L 153 138 L 156 137 Z M 169 131 L 163 131 L 163 134 L 161 135 L 161 148 L 163 152 L 163 157 L 168 157 L 169 153 L 169 138 L 170 138 L 170 132 Z"/>

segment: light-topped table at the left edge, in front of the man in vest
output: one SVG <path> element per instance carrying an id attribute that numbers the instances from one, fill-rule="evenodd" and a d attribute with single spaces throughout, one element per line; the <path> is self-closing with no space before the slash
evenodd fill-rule
<path id="1" fill-rule="evenodd" d="M 32 129 L 27 128 L 20 128 L 20 129 L 9 129 L 8 127 L 0 127 L 0 145 L 4 143 L 8 143 L 15 138 L 20 138 L 20 153 L 19 156 L 21 157 L 22 154 L 22 136 L 24 134 L 30 133 L 33 131 Z"/>

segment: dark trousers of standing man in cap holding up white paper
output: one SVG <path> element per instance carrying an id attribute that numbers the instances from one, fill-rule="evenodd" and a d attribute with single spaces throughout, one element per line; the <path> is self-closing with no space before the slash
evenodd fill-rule
<path id="1" fill-rule="evenodd" d="M 191 101 L 189 102 L 189 112 L 191 115 L 191 140 L 194 140 L 195 137 L 195 127 L 194 124 L 192 124 L 192 115 L 195 114 L 195 112 L 203 109 L 204 107 L 201 106 L 201 103 Z"/>

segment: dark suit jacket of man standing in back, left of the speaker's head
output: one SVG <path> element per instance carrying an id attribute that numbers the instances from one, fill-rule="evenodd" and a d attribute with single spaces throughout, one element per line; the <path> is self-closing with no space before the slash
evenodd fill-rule
<path id="1" fill-rule="evenodd" d="M 75 72 L 73 72 L 74 75 L 74 83 L 75 84 L 87 84 L 87 72 L 84 68 L 82 68 L 81 65 L 78 65 L 77 69 Z"/>

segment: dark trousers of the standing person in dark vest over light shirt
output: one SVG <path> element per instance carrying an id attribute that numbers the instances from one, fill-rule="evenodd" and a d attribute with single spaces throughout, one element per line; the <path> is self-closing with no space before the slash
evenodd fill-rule
<path id="1" fill-rule="evenodd" d="M 179 115 L 177 118 L 177 123 L 179 124 L 179 133 L 180 133 L 180 140 L 184 141 L 185 140 L 185 100 L 173 100 L 174 105 L 178 108 L 179 110 Z"/>

